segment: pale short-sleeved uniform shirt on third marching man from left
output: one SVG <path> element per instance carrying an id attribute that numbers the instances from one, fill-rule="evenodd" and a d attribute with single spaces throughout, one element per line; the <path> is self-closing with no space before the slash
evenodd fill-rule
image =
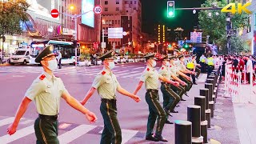
<path id="1" fill-rule="evenodd" d="M 145 82 L 146 90 L 158 90 L 158 78 L 158 71 L 154 70 L 154 68 L 152 67 L 146 66 L 146 69 L 143 71 L 140 81 Z"/>

